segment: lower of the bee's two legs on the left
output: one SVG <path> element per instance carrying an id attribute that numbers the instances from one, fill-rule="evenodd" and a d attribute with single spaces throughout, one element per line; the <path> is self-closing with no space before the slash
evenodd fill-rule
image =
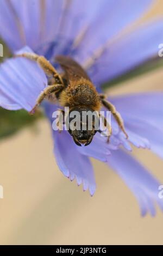
<path id="1" fill-rule="evenodd" d="M 62 90 L 64 86 L 62 84 L 53 84 L 51 86 L 47 86 L 43 92 L 39 95 L 36 105 L 33 107 L 32 111 L 30 111 L 30 114 L 34 114 L 35 109 L 41 104 L 43 99 L 45 99 L 46 96 L 50 95 L 51 93 L 58 92 L 59 90 Z"/>

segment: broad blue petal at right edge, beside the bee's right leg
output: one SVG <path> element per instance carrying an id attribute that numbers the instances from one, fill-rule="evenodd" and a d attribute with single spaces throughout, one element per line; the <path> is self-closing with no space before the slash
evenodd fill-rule
<path id="1" fill-rule="evenodd" d="M 111 101 L 122 115 L 129 141 L 163 157 L 163 94 L 124 95 Z"/>

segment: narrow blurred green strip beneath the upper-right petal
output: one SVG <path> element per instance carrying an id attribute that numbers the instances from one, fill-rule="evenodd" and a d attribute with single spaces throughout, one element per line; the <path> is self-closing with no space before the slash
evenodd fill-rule
<path id="1" fill-rule="evenodd" d="M 116 86 L 119 83 L 128 81 L 130 79 L 133 79 L 137 76 L 141 76 L 143 74 L 146 74 L 147 72 L 150 72 L 152 70 L 158 69 L 163 67 L 163 57 L 156 57 L 151 60 L 148 60 L 148 62 L 145 62 L 139 66 L 137 66 L 135 69 L 130 70 L 126 74 L 123 74 L 119 77 L 114 78 L 113 80 L 104 83 L 102 88 L 107 89 L 112 86 Z"/>

